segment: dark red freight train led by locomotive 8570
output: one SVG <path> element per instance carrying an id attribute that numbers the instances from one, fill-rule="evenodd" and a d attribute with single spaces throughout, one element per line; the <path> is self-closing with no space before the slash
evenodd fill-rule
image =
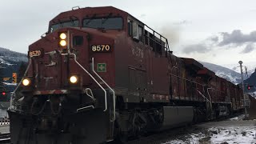
<path id="1" fill-rule="evenodd" d="M 58 14 L 28 57 L 8 111 L 14 144 L 123 140 L 241 106 L 241 89 L 112 6 Z"/>

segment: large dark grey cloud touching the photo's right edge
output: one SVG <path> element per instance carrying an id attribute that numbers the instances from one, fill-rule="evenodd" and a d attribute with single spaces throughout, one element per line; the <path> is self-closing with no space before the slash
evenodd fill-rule
<path id="1" fill-rule="evenodd" d="M 230 34 L 222 32 L 221 35 L 222 41 L 218 43 L 218 46 L 242 45 L 245 42 L 256 42 L 256 31 L 252 31 L 250 34 L 243 34 L 241 30 L 233 30 Z"/>

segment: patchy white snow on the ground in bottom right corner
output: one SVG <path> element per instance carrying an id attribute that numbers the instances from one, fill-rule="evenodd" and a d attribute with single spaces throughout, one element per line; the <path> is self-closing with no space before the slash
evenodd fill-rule
<path id="1" fill-rule="evenodd" d="M 162 144 L 252 144 L 256 143 L 256 126 L 211 127 L 186 134 Z"/>

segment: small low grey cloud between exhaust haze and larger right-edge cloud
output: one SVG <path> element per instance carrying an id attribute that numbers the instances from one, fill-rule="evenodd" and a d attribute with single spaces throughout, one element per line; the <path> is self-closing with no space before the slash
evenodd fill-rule
<path id="1" fill-rule="evenodd" d="M 209 51 L 210 51 L 210 48 L 207 48 L 207 46 L 204 44 L 187 45 L 183 47 L 183 50 L 182 50 L 182 52 L 185 54 L 190 54 L 195 52 L 205 54 Z"/>

